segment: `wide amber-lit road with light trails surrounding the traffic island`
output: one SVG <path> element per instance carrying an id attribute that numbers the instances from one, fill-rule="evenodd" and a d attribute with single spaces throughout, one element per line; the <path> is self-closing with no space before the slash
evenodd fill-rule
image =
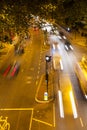
<path id="1" fill-rule="evenodd" d="M 13 47 L 1 69 L 0 120 L 8 117 L 6 125 L 12 130 L 86 130 L 87 104 L 74 66 L 87 49 L 72 43 L 73 50 L 67 51 L 64 39 L 53 34 L 48 34 L 49 45 L 46 45 L 43 31 L 30 29 L 30 32 L 24 54 L 15 54 Z M 63 67 L 55 70 L 52 59 L 49 63 L 49 71 L 54 73 L 55 98 L 49 103 L 38 103 L 35 96 L 40 78 L 45 74 L 45 56 L 54 54 L 60 55 Z M 18 74 L 3 76 L 14 61 L 20 64 Z"/>

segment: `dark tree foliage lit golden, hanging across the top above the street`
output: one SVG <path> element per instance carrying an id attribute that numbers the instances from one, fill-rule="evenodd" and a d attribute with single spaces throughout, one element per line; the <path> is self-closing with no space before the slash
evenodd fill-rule
<path id="1" fill-rule="evenodd" d="M 0 0 L 0 36 L 27 32 L 31 14 L 72 26 L 87 20 L 86 0 Z"/>

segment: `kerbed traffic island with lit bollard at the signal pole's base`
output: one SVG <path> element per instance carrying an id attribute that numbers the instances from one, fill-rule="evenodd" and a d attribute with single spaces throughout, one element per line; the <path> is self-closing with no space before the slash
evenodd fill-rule
<path id="1" fill-rule="evenodd" d="M 49 103 L 54 100 L 53 75 L 49 74 L 48 86 L 45 74 L 41 76 L 35 100 L 38 103 Z"/>

